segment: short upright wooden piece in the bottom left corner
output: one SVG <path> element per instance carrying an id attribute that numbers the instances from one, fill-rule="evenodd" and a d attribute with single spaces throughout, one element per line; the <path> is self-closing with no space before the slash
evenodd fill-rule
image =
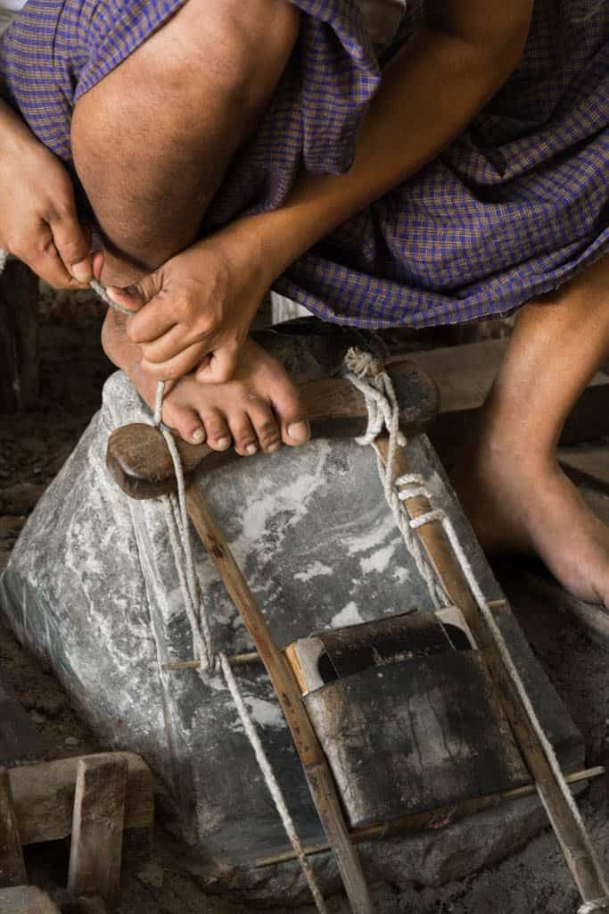
<path id="1" fill-rule="evenodd" d="M 68 891 L 99 895 L 110 906 L 121 889 L 127 760 L 79 760 L 69 854 Z"/>

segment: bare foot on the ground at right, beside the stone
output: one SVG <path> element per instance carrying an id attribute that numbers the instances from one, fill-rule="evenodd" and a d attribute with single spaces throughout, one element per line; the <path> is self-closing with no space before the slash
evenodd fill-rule
<path id="1" fill-rule="evenodd" d="M 488 554 L 536 553 L 573 596 L 609 609 L 609 528 L 556 461 L 479 444 L 451 477 Z"/>

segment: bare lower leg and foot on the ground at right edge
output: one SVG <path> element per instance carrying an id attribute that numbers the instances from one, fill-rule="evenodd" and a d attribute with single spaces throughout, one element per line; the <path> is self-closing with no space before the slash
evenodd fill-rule
<path id="1" fill-rule="evenodd" d="M 478 436 L 453 473 L 488 552 L 535 552 L 562 585 L 609 608 L 609 529 L 562 473 L 556 448 L 609 351 L 609 257 L 520 312 Z"/>

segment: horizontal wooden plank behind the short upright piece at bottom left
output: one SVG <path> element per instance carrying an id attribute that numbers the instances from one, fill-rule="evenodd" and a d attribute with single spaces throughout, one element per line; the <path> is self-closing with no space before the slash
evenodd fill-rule
<path id="1" fill-rule="evenodd" d="M 97 758 L 104 758 L 104 754 Z M 146 763 L 132 752 L 110 752 L 108 758 L 127 761 L 125 829 L 152 834 L 154 797 L 152 774 Z M 13 768 L 8 772 L 21 841 L 24 845 L 56 841 L 72 831 L 72 813 L 79 760 L 48 761 Z M 85 757 L 86 758 L 86 757 Z"/>

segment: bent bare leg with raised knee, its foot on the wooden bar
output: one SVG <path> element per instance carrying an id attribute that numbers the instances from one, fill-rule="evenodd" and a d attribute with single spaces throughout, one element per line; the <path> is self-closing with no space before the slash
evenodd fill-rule
<path id="1" fill-rule="evenodd" d="M 107 245 L 103 282 L 133 282 L 197 238 L 232 155 L 270 100 L 298 29 L 299 13 L 286 0 L 188 0 L 79 101 L 72 145 Z M 153 384 L 139 367 L 139 347 L 113 314 L 103 343 L 150 403 Z M 275 450 L 280 438 L 305 441 L 289 378 L 251 345 L 248 359 L 255 376 L 249 388 L 233 385 L 229 395 L 184 380 L 167 398 L 163 419 L 186 440 L 206 437 L 221 450 L 233 438 L 242 454 Z"/>

